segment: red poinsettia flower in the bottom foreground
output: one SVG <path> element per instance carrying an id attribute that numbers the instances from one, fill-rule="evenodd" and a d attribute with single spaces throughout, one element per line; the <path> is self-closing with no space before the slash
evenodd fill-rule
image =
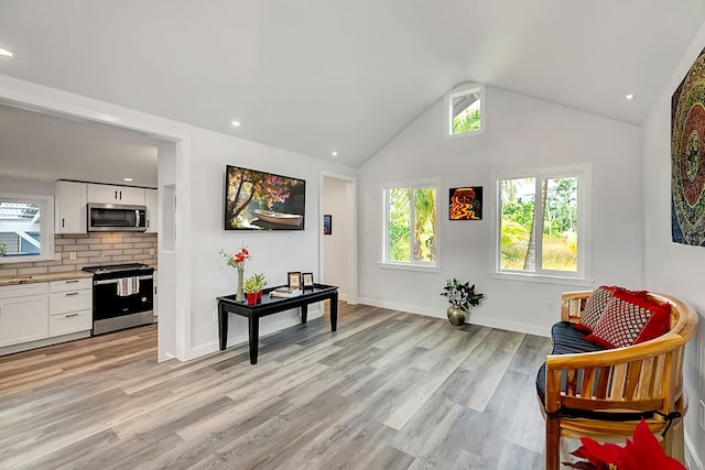
<path id="1" fill-rule="evenodd" d="M 625 447 L 599 444 L 588 437 L 582 437 L 581 442 L 583 446 L 572 453 L 587 461 L 563 462 L 564 466 L 583 470 L 686 470 L 681 462 L 663 452 L 643 419 L 634 429 L 633 442 L 627 439 Z"/>

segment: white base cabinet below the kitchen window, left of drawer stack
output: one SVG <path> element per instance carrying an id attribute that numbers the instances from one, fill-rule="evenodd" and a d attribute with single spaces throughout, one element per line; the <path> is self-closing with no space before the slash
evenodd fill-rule
<path id="1" fill-rule="evenodd" d="M 48 337 L 47 284 L 0 287 L 0 347 Z"/>

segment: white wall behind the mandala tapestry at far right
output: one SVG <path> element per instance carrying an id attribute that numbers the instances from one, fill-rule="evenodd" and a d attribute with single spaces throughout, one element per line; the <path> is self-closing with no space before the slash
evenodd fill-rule
<path id="1" fill-rule="evenodd" d="M 703 266 L 705 248 L 671 241 L 671 97 L 691 65 L 705 46 L 705 25 L 683 56 L 668 86 L 643 125 L 644 160 L 644 282 L 651 291 L 672 294 L 690 303 L 701 316 L 705 311 Z M 701 147 L 701 153 L 703 149 Z M 701 165 L 704 163 L 701 162 Z M 699 332 L 686 347 L 685 386 L 690 411 L 685 416 L 688 449 L 694 455 L 693 468 L 705 468 L 705 431 L 697 425 L 698 401 L 705 402 L 705 384 L 698 376 L 698 356 L 705 354 L 705 319 Z M 699 351 L 699 354 L 698 354 Z M 701 359 L 705 362 L 705 358 Z M 705 369 L 705 363 L 699 364 Z M 702 372 L 705 379 L 705 371 Z"/>

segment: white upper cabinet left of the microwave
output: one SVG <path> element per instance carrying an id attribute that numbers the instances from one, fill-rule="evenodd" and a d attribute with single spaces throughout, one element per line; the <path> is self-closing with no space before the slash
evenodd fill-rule
<path id="1" fill-rule="evenodd" d="M 86 233 L 87 184 L 57 181 L 54 186 L 54 232 Z"/>

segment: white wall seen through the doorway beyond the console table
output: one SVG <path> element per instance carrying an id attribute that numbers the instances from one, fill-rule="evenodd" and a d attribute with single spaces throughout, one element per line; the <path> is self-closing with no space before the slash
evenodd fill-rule
<path id="1" fill-rule="evenodd" d="M 323 283 L 337 285 L 340 299 L 348 296 L 348 243 L 350 243 L 349 217 L 347 214 L 347 185 L 341 179 L 324 177 L 323 214 L 333 216 L 333 231 L 323 237 Z"/>

